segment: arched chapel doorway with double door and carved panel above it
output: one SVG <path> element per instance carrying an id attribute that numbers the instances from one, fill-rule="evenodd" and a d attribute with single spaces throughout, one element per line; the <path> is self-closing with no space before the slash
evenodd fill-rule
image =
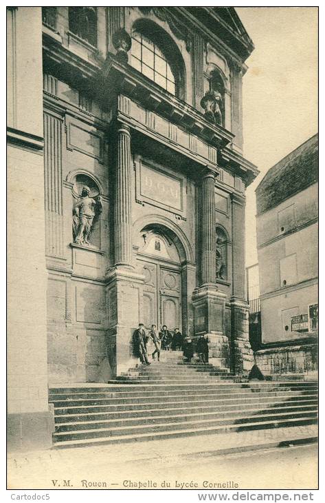
<path id="1" fill-rule="evenodd" d="M 182 329 L 181 258 L 170 233 L 148 225 L 139 232 L 137 267 L 144 276 L 142 320 L 146 328 Z"/>

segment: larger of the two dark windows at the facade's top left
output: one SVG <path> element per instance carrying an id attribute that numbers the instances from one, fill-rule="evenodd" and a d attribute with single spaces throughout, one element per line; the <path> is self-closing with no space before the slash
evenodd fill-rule
<path id="1" fill-rule="evenodd" d="M 69 30 L 97 47 L 96 7 L 69 7 Z"/>

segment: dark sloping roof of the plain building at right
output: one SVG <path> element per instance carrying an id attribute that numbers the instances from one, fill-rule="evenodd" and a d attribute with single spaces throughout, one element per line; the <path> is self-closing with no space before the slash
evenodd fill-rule
<path id="1" fill-rule="evenodd" d="M 318 134 L 271 167 L 256 189 L 257 214 L 318 180 Z"/>

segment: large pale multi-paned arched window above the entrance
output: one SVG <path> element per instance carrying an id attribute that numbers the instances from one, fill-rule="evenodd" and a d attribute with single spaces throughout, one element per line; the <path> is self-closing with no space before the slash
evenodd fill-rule
<path id="1" fill-rule="evenodd" d="M 140 32 L 133 32 L 131 65 L 171 94 L 176 94 L 175 76 L 164 52 Z"/>

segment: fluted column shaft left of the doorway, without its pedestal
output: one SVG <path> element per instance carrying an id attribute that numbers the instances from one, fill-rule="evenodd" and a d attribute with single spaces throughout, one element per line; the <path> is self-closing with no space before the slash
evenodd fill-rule
<path id="1" fill-rule="evenodd" d="M 128 125 L 117 129 L 117 165 L 114 208 L 115 265 L 132 265 L 131 240 L 131 133 Z"/>

